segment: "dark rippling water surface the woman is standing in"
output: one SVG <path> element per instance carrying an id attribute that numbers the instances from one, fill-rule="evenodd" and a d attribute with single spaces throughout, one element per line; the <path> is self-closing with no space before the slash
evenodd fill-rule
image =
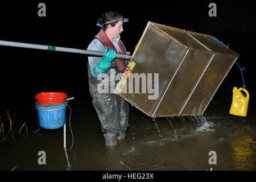
<path id="1" fill-rule="evenodd" d="M 230 103 L 211 102 L 203 116 L 152 118 L 130 107 L 127 137 L 106 147 L 100 122 L 90 103 L 70 103 L 72 135 L 67 125 L 67 150 L 63 128 L 40 129 L 34 105 L 19 107 L 14 138 L 0 143 L 1 170 L 255 170 L 255 107 L 247 117 L 228 113 Z M 69 110 L 67 109 L 67 119 Z M 3 119 L 4 116 L 2 115 Z M 68 120 L 67 120 L 68 121 Z M 27 123 L 28 138 L 22 124 Z M 69 124 L 67 122 L 67 124 Z M 39 130 L 38 130 L 39 129 Z M 38 130 L 38 131 L 37 131 Z M 5 127 L 5 132 L 7 127 Z M 36 133 L 35 133 L 36 131 Z M 1 139 L 2 140 L 2 139 Z M 46 165 L 39 165 L 39 151 Z M 209 152 L 217 154 L 210 165 Z"/>

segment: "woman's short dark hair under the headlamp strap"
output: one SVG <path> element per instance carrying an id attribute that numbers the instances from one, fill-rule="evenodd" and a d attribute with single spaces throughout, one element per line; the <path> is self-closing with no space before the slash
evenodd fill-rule
<path id="1" fill-rule="evenodd" d="M 97 20 L 97 23 L 103 25 L 104 30 L 106 31 L 107 26 L 110 24 L 112 27 L 115 26 L 119 21 L 123 20 L 123 16 L 115 13 L 113 11 L 105 12 L 101 18 Z"/>

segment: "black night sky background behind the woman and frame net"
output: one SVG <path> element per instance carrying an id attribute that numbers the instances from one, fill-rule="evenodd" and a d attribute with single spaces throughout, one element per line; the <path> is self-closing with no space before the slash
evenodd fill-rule
<path id="1" fill-rule="evenodd" d="M 217 3 L 217 17 L 208 15 L 210 1 L 160 1 L 147 3 L 92 3 L 45 1 L 46 17 L 38 16 L 40 1 L 1 2 L 0 39 L 14 42 L 86 49 L 100 30 L 96 20 L 112 10 L 129 18 L 121 34 L 127 51 L 133 52 L 148 20 L 215 36 L 240 54 L 246 89 L 255 91 L 254 44 L 256 18 L 253 1 Z M 90 101 L 87 56 L 1 46 L 2 104 L 33 98 L 38 92 L 66 92 Z M 242 87 L 240 69 L 234 64 L 216 96 L 229 97 L 233 86 Z M 220 96 L 221 97 L 221 96 Z M 224 99 L 225 99 L 224 98 Z M 221 98 L 220 98 L 221 99 Z M 33 101 L 33 100 L 30 100 Z"/>

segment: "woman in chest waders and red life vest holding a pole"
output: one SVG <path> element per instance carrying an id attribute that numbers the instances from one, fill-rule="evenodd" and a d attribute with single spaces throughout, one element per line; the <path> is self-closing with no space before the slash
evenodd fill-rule
<path id="1" fill-rule="evenodd" d="M 120 40 L 123 22 L 123 17 L 117 13 L 110 11 L 104 13 L 97 20 L 97 25 L 102 28 L 87 48 L 92 51 L 106 52 L 106 56 L 103 57 L 88 57 L 90 95 L 101 122 L 106 146 L 115 146 L 118 140 L 124 139 L 126 137 L 126 129 L 129 126 L 129 105 L 121 97 L 113 93 L 115 86 L 110 85 L 117 84 L 115 78 L 110 77 L 110 72 L 112 74 L 114 72 L 117 75 L 117 73 L 123 72 L 127 64 L 125 60 L 115 59 L 116 53 L 126 54 L 125 47 Z M 98 90 L 98 84 L 102 85 L 102 82 L 106 82 L 105 79 L 97 79 L 102 76 L 101 73 L 106 73 L 110 78 L 107 88 L 110 92 L 102 93 Z M 106 88 L 104 89 L 106 90 Z"/>

